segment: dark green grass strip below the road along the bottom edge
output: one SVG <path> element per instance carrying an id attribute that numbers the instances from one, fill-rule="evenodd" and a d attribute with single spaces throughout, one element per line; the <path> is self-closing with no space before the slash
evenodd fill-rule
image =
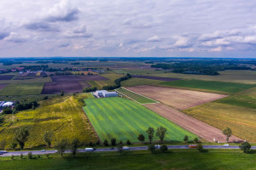
<path id="1" fill-rule="evenodd" d="M 255 154 L 243 154 L 241 150 L 159 150 L 150 154 L 148 150 L 118 152 L 79 153 L 41 156 L 28 159 L 24 156 L 1 157 L 3 169 L 255 169 Z"/>

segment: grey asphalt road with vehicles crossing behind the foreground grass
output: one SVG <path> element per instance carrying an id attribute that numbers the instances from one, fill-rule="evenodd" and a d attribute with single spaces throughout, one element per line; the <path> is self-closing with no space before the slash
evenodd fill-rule
<path id="1" fill-rule="evenodd" d="M 203 145 L 204 149 L 240 149 L 237 145 L 230 145 L 230 146 L 223 146 L 223 145 Z M 189 149 L 189 145 L 168 145 L 168 149 Z M 256 146 L 252 146 L 253 150 L 256 149 Z M 137 146 L 137 147 L 130 147 L 130 150 L 148 150 L 148 146 Z M 93 152 L 102 152 L 102 151 L 117 151 L 116 148 L 102 148 L 102 149 L 96 149 Z M 54 154 L 56 153 L 55 150 L 32 150 L 32 151 L 12 151 L 8 153 L 4 153 L 0 156 L 20 156 L 20 154 L 23 154 L 26 156 L 29 152 L 32 152 L 32 155 L 45 155 L 45 154 Z M 78 152 L 89 152 L 85 151 L 84 149 L 78 150 Z M 91 151 L 90 151 L 91 152 Z M 65 153 L 71 153 L 71 150 L 67 150 Z"/>

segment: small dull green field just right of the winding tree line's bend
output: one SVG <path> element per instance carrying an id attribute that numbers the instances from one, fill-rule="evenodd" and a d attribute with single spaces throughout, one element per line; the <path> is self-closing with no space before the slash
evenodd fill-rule
<path id="1" fill-rule="evenodd" d="M 131 86 L 140 86 L 140 85 L 152 85 L 152 84 L 158 84 L 160 82 L 163 82 L 163 81 L 132 77 L 128 80 L 121 82 L 121 86 L 131 87 Z"/>

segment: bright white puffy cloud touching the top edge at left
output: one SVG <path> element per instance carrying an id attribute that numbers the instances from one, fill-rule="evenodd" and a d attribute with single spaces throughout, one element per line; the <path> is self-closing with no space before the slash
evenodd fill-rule
<path id="1" fill-rule="evenodd" d="M 48 16 L 45 17 L 45 20 L 49 22 L 70 22 L 79 19 L 79 12 L 79 8 L 73 7 L 70 0 L 62 0 L 60 3 L 55 4 L 53 8 L 49 9 Z"/>

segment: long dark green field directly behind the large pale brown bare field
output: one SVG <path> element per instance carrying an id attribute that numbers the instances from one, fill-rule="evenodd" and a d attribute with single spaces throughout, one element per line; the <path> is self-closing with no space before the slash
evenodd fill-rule
<path id="1" fill-rule="evenodd" d="M 216 92 L 237 93 L 247 88 L 253 88 L 256 85 L 241 84 L 233 82 L 215 82 L 201 80 L 177 80 L 172 82 L 161 82 L 160 84 L 171 87 L 183 87 L 191 89 L 205 89 Z"/>

